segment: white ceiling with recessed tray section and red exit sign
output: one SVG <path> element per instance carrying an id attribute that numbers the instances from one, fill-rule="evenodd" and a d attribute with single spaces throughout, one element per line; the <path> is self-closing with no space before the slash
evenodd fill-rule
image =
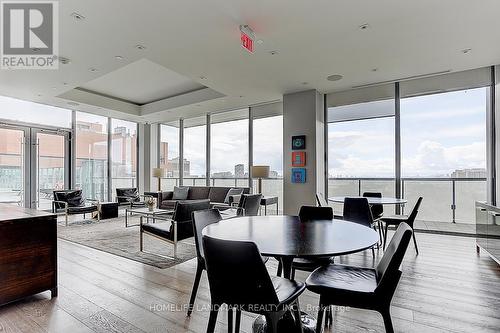
<path id="1" fill-rule="evenodd" d="M 105 108 L 98 96 L 95 101 L 87 96 L 77 107 L 125 119 L 168 121 L 276 101 L 288 92 L 339 91 L 500 63 L 497 0 L 64 0 L 59 6 L 60 54 L 71 63 L 57 71 L 2 70 L 0 94 L 68 107 L 76 87 L 139 103 L 153 98 L 152 82 L 165 85 L 158 94 L 177 89 L 143 73 L 131 78 L 137 82 L 121 82 L 120 68 L 146 61 L 141 59 L 220 93 L 189 105 L 165 103 L 163 110 L 144 115 L 140 109 Z M 75 21 L 73 12 L 85 20 Z M 365 23 L 369 28 L 360 30 Z M 240 24 L 250 25 L 263 41 L 254 54 L 239 46 Z M 137 44 L 146 49 L 138 50 Z M 472 50 L 461 52 L 467 48 Z M 112 72 L 116 79 L 107 78 Z M 326 77 L 331 74 L 344 78 L 330 82 Z M 134 86 L 139 89 L 130 89 Z"/>

